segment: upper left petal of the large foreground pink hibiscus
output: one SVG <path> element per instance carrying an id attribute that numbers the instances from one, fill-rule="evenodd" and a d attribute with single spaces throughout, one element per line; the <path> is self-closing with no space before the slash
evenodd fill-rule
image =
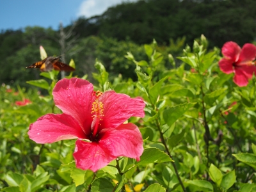
<path id="1" fill-rule="evenodd" d="M 61 79 L 52 92 L 55 105 L 73 116 L 87 135 L 92 124 L 92 92 L 92 83 L 77 78 Z"/>

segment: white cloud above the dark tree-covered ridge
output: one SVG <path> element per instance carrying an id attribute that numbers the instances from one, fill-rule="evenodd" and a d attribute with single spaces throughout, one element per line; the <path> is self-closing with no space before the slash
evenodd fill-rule
<path id="1" fill-rule="evenodd" d="M 78 16 L 92 17 L 104 13 L 110 6 L 115 6 L 122 2 L 132 2 L 137 0 L 84 0 L 79 7 Z"/>

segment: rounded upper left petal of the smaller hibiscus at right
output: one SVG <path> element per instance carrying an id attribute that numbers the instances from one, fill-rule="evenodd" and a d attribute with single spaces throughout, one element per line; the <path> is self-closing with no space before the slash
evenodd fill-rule
<path id="1" fill-rule="evenodd" d="M 237 61 L 241 48 L 235 42 L 227 42 L 221 48 L 221 52 L 226 58 Z"/>

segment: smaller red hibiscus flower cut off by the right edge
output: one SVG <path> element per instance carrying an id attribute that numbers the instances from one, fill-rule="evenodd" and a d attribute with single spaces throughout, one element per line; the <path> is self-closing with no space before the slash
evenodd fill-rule
<path id="1" fill-rule="evenodd" d="M 241 49 L 235 42 L 227 42 L 223 45 L 221 52 L 224 58 L 219 61 L 220 69 L 225 74 L 234 72 L 234 83 L 238 86 L 246 86 L 248 79 L 252 79 L 253 72 L 256 72 L 253 63 L 256 56 L 256 46 L 244 44 Z"/>

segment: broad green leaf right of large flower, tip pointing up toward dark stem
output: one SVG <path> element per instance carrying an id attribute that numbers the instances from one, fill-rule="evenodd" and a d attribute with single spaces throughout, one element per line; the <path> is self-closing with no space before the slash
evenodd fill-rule
<path id="1" fill-rule="evenodd" d="M 180 116 L 182 116 L 189 108 L 191 108 L 195 103 L 184 103 L 172 108 L 165 109 L 163 112 L 163 118 L 166 124 L 172 126 Z"/>

